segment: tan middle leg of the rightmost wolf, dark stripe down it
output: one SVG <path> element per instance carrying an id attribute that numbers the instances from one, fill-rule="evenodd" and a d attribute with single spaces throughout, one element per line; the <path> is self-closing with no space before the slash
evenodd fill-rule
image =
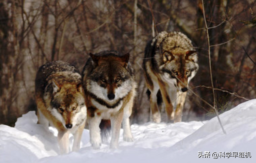
<path id="1" fill-rule="evenodd" d="M 165 104 L 168 121 L 172 120 L 173 104 L 170 96 L 170 87 L 163 81 L 158 80 L 162 98 Z"/>

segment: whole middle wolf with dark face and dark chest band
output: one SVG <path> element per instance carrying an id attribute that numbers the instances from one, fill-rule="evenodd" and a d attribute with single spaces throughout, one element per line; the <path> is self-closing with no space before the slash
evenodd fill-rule
<path id="1" fill-rule="evenodd" d="M 121 124 L 124 141 L 133 141 L 129 117 L 137 84 L 129 63 L 129 54 L 121 55 L 117 51 L 90 54 L 82 76 L 92 147 L 100 148 L 99 124 L 106 119 L 111 121 L 110 148 L 118 147 Z"/>

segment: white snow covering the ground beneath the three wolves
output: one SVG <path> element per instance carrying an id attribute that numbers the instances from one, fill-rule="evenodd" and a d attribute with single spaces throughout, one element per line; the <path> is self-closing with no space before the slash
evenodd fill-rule
<path id="1" fill-rule="evenodd" d="M 0 163 L 255 162 L 256 99 L 219 117 L 227 134 L 222 132 L 217 117 L 175 124 L 134 124 L 134 142 L 124 142 L 121 129 L 116 150 L 109 149 L 109 143 L 102 144 L 99 150 L 92 149 L 89 131 L 84 129 L 81 149 L 58 155 L 56 129 L 45 130 L 37 124 L 35 112 L 30 111 L 17 120 L 14 128 L 0 125 Z M 210 152 L 210 158 L 198 158 L 200 152 Z M 215 152 L 217 159 L 213 158 Z M 223 158 L 220 152 L 231 152 L 231 157 Z M 235 158 L 235 152 L 240 157 L 250 154 L 251 158 Z"/>

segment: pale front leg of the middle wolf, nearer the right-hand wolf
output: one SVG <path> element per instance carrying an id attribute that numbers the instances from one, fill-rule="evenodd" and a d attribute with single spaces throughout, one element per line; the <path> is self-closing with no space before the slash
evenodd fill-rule
<path id="1" fill-rule="evenodd" d="M 119 135 L 121 124 L 123 120 L 124 109 L 121 110 L 114 116 L 111 117 L 111 141 L 110 141 L 110 148 L 115 149 L 118 147 Z"/>

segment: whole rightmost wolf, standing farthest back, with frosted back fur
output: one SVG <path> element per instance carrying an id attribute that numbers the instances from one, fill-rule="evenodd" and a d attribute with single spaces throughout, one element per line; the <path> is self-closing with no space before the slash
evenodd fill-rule
<path id="1" fill-rule="evenodd" d="M 163 31 L 148 42 L 144 52 L 143 72 L 153 121 L 161 121 L 157 104 L 160 91 L 168 121 L 180 122 L 188 83 L 199 69 L 191 40 L 181 32 Z"/>

